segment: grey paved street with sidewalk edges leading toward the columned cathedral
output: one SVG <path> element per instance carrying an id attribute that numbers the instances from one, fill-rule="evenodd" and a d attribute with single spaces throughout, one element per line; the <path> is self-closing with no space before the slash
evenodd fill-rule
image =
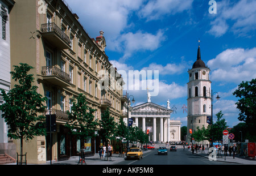
<path id="1" fill-rule="evenodd" d="M 233 156 L 216 158 L 217 161 L 210 161 L 208 158 L 208 150 L 205 153 L 192 154 L 187 148 L 183 151 L 181 145 L 177 145 L 177 152 L 170 152 L 168 148 L 167 155 L 158 155 L 157 148 L 143 152 L 143 158 L 141 160 L 126 160 L 126 157 L 119 157 L 119 154 L 113 154 L 109 161 L 104 160 L 95 154 L 94 156 L 86 157 L 86 165 L 256 165 L 256 160 L 239 157 L 233 159 Z M 52 162 L 52 165 L 77 165 L 78 157 L 72 157 L 66 161 Z M 49 165 L 47 162 L 44 165 Z M 81 165 L 81 163 L 80 163 Z"/>

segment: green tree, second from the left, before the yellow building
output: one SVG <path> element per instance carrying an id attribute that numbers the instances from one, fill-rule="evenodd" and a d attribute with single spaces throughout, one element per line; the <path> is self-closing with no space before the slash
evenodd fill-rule
<path id="1" fill-rule="evenodd" d="M 65 126 L 84 144 L 84 139 L 95 136 L 98 122 L 94 120 L 95 110 L 88 106 L 86 97 L 81 93 L 75 99 L 72 99 L 71 111 L 67 111 L 69 122 Z"/>

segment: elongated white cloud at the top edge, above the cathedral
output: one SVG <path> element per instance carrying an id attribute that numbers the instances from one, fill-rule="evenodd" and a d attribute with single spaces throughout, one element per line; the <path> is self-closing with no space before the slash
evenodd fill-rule
<path id="1" fill-rule="evenodd" d="M 147 21 L 158 20 L 164 15 L 174 15 L 192 8 L 193 0 L 156 0 L 148 1 L 138 12 L 141 18 Z"/>

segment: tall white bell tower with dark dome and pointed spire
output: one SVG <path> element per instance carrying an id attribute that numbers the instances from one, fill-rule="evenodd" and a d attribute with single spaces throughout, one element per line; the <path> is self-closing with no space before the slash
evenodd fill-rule
<path id="1" fill-rule="evenodd" d="M 188 70 L 189 82 L 188 85 L 188 125 L 186 142 L 191 143 L 191 133 L 196 131 L 196 128 L 207 128 L 207 116 L 211 114 L 210 91 L 211 81 L 209 80 L 210 69 L 205 66 L 201 60 L 200 41 L 197 49 L 197 60 L 193 64 L 192 69 Z"/>

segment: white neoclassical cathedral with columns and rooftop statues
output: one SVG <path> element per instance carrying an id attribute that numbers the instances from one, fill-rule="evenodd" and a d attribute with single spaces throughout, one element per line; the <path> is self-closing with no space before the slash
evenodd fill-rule
<path id="1" fill-rule="evenodd" d="M 151 102 L 148 93 L 148 101 L 144 104 L 134 106 L 131 111 L 131 118 L 143 131 L 149 130 L 149 140 L 157 142 L 180 141 L 180 121 L 171 121 L 170 102 L 167 101 L 167 108 Z"/>

